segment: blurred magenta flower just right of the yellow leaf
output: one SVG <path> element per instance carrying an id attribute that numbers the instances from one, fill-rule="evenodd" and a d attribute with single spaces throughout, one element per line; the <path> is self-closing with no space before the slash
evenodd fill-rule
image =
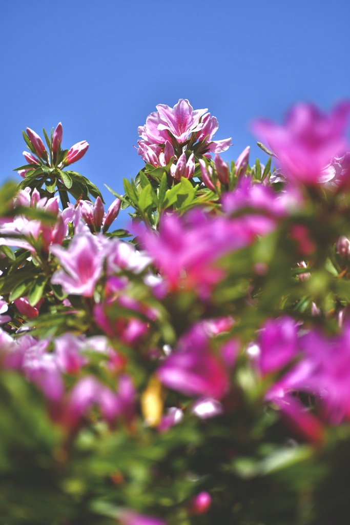
<path id="1" fill-rule="evenodd" d="M 199 325 L 187 332 L 158 368 L 160 381 L 188 396 L 220 399 L 228 389 L 224 366 L 209 349 L 209 338 Z"/>

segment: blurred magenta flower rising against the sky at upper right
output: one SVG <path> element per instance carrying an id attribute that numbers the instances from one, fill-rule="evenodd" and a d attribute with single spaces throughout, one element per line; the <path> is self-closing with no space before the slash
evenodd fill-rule
<path id="1" fill-rule="evenodd" d="M 346 149 L 346 125 L 350 102 L 342 102 L 329 113 L 312 104 L 296 104 L 283 125 L 268 120 L 253 123 L 257 134 L 277 156 L 282 172 L 305 184 L 323 182 L 322 172 L 338 152 Z"/>

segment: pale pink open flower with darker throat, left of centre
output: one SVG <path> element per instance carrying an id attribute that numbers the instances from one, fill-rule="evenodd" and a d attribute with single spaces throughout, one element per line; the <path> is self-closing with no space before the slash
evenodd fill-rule
<path id="1" fill-rule="evenodd" d="M 77 235 L 68 249 L 52 246 L 62 268 L 51 278 L 52 284 L 61 285 L 66 293 L 92 297 L 102 275 L 104 252 L 96 236 Z"/>

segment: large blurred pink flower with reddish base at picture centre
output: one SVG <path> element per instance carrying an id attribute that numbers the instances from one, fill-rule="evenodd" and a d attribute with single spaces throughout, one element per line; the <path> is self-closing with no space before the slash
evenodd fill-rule
<path id="1" fill-rule="evenodd" d="M 159 235 L 151 230 L 140 234 L 171 289 L 186 286 L 203 293 L 208 293 L 223 277 L 216 261 L 229 251 L 249 244 L 253 238 L 243 220 L 207 217 L 198 211 L 185 217 L 164 215 Z"/>

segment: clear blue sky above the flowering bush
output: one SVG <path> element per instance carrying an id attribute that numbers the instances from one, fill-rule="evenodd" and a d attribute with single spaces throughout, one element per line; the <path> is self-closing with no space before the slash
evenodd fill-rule
<path id="1" fill-rule="evenodd" d="M 253 118 L 350 98 L 349 15 L 345 0 L 2 2 L 0 181 L 19 181 L 22 129 L 61 121 L 63 147 L 89 142 L 75 169 L 110 203 L 103 183 L 122 192 L 143 166 L 137 127 L 179 98 L 209 108 L 217 140 L 232 137 L 225 160 L 250 144 L 264 162 Z"/>

